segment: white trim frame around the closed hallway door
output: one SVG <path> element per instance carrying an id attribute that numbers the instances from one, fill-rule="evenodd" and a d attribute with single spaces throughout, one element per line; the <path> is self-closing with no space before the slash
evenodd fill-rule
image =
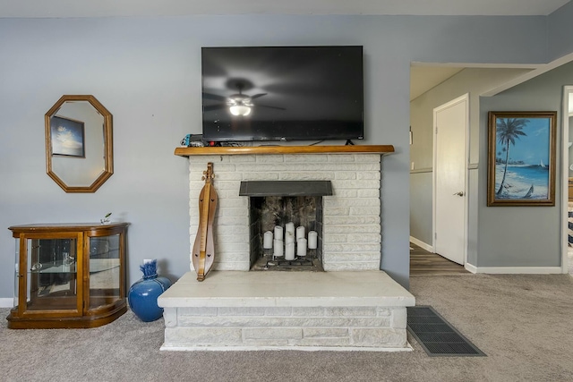
<path id="1" fill-rule="evenodd" d="M 454 98 L 451 101 L 442 104 L 440 106 L 434 107 L 433 108 L 433 123 L 432 123 L 432 129 L 433 129 L 433 133 L 432 133 L 432 137 L 433 137 L 433 153 L 432 153 L 432 167 L 433 167 L 433 171 L 432 171 L 432 251 L 434 253 L 436 253 L 436 186 L 437 186 L 437 182 L 436 182 L 436 177 L 438 174 L 437 171 L 437 159 L 438 159 L 438 152 L 437 152 L 437 146 L 438 146 L 438 128 L 436 126 L 437 124 L 437 114 L 444 110 L 447 109 L 451 106 L 457 105 L 461 102 L 466 102 L 466 141 L 464 142 L 464 188 L 465 188 L 465 199 L 464 199 L 464 267 L 467 264 L 467 231 L 468 231 L 468 211 L 469 211 L 469 198 L 467 196 L 468 193 L 468 188 L 469 188 L 469 177 L 467 174 L 467 165 L 469 163 L 469 93 L 464 94 L 463 96 L 460 96 L 458 98 Z"/>

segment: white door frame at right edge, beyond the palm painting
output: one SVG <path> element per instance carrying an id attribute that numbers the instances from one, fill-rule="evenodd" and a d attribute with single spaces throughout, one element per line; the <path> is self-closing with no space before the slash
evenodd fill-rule
<path id="1" fill-rule="evenodd" d="M 563 87 L 563 106 L 561 111 L 561 137 L 563 155 L 561 156 L 563 169 L 561 181 L 561 273 L 569 273 L 569 98 L 573 98 L 573 86 Z"/>

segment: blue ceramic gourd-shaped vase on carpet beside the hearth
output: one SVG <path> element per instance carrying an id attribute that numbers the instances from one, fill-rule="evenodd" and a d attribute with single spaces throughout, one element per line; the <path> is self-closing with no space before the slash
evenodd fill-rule
<path id="1" fill-rule="evenodd" d="M 163 316 L 163 308 L 158 306 L 158 297 L 171 286 L 167 277 L 158 276 L 157 264 L 157 259 L 154 259 L 140 266 L 143 278 L 133 283 L 127 294 L 133 313 L 144 322 L 155 321 Z"/>

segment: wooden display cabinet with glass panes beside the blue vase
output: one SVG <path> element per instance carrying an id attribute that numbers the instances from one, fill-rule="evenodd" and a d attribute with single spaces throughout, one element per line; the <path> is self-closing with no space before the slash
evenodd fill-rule
<path id="1" fill-rule="evenodd" d="M 14 308 L 8 327 L 100 327 L 127 310 L 128 223 L 14 225 Z"/>

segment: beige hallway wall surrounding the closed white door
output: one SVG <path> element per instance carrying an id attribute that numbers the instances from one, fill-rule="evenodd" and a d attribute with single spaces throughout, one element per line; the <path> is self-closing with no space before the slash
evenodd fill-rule
<path id="1" fill-rule="evenodd" d="M 479 191 L 477 171 L 479 163 L 479 95 L 499 86 L 500 83 L 528 72 L 526 69 L 467 68 L 410 102 L 410 123 L 413 144 L 410 161 L 415 171 L 410 172 L 410 235 L 432 245 L 432 160 L 433 160 L 433 109 L 464 94 L 469 94 L 469 190 L 466 191 L 470 206 L 477 204 Z M 425 171 L 424 171 L 425 170 Z M 468 211 L 468 242 L 476 242 L 477 216 Z M 468 262 L 475 264 L 475 245 L 470 245 Z"/>

